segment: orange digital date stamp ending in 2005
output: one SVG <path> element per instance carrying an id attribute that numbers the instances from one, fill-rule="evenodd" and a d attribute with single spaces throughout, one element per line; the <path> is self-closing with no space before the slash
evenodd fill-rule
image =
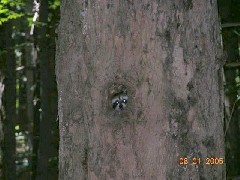
<path id="1" fill-rule="evenodd" d="M 178 164 L 180 165 L 200 165 L 200 164 L 205 164 L 205 165 L 222 165 L 224 164 L 224 158 L 219 158 L 219 157 L 207 157 L 204 159 L 198 158 L 198 157 L 193 157 L 193 158 L 187 158 L 187 157 L 180 157 L 178 160 Z"/>

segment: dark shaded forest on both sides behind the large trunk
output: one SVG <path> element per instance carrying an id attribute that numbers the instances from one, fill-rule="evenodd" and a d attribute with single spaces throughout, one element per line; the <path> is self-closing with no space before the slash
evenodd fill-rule
<path id="1" fill-rule="evenodd" d="M 240 176 L 240 2 L 218 0 L 225 54 L 225 151 Z M 0 2 L 0 179 L 58 179 L 55 50 L 60 0 Z"/>

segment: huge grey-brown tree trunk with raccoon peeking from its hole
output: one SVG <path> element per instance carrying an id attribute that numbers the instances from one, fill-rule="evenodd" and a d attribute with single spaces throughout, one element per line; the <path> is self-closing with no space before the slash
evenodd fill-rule
<path id="1" fill-rule="evenodd" d="M 64 0 L 58 35 L 60 179 L 225 178 L 216 1 Z"/>

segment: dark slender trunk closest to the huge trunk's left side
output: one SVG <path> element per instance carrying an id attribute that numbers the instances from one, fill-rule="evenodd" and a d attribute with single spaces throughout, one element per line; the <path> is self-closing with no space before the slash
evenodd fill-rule
<path id="1" fill-rule="evenodd" d="M 42 23 L 48 22 L 48 2 L 42 1 L 39 21 Z M 51 126 L 49 124 L 49 71 L 48 71 L 48 44 L 47 44 L 47 26 L 39 27 L 37 34 L 39 37 L 39 65 L 40 65 L 40 101 L 41 101 L 41 117 L 39 123 L 39 149 L 38 149 L 38 165 L 37 165 L 37 180 L 49 179 L 49 158 L 51 149 Z"/>

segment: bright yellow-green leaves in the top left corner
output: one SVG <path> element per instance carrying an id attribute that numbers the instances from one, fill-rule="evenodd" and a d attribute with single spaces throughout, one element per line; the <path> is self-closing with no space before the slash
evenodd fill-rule
<path id="1" fill-rule="evenodd" d="M 0 2 L 0 26 L 11 19 L 24 16 L 21 10 L 24 8 L 22 0 L 1 0 Z"/>

